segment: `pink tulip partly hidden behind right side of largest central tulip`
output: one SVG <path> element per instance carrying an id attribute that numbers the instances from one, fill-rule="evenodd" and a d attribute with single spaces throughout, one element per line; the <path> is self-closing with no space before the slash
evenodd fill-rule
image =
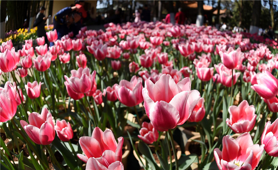
<path id="1" fill-rule="evenodd" d="M 198 103 L 196 104 L 191 116 L 188 118 L 188 121 L 199 122 L 203 120 L 205 114 L 206 110 L 204 108 L 204 98 L 201 97 Z"/>

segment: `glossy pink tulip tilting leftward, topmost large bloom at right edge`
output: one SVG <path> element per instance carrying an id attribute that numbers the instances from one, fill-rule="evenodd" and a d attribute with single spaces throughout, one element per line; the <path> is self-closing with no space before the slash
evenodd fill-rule
<path id="1" fill-rule="evenodd" d="M 278 94 L 278 79 L 269 71 L 263 71 L 256 75 L 256 83 L 251 88 L 263 98 L 272 99 Z"/>

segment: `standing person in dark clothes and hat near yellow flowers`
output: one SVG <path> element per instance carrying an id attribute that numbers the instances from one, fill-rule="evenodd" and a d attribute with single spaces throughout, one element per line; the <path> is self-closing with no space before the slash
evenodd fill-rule
<path id="1" fill-rule="evenodd" d="M 40 7 L 40 12 L 36 16 L 36 20 L 34 22 L 34 27 L 38 27 L 37 36 L 38 37 L 43 37 L 44 36 L 45 43 L 48 43 L 46 32 L 45 32 L 45 29 L 44 29 L 45 21 L 46 21 L 46 19 L 48 19 L 48 17 L 44 16 L 44 11 L 45 11 L 45 7 L 41 6 Z"/>

